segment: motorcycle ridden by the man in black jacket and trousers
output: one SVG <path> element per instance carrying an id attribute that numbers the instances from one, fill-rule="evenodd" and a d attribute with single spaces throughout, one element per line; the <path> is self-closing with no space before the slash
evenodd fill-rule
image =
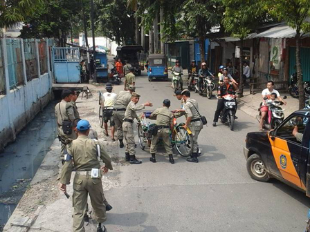
<path id="1" fill-rule="evenodd" d="M 219 116 L 221 122 L 226 124 L 228 122 L 228 126 L 230 131 L 234 130 L 234 122 L 235 122 L 235 115 L 237 111 L 237 102 L 235 95 L 224 95 L 224 110 L 221 111 L 221 115 Z"/>

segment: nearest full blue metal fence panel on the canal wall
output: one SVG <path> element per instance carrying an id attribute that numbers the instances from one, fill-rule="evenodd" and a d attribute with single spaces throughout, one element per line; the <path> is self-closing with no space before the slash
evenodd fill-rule
<path id="1" fill-rule="evenodd" d="M 21 40 L 6 39 L 8 55 L 8 77 L 10 89 L 24 84 L 23 62 L 21 58 Z"/>

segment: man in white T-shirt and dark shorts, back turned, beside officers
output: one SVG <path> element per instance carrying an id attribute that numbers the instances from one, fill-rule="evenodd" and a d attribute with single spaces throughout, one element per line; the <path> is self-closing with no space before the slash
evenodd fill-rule
<path id="1" fill-rule="evenodd" d="M 105 86 L 105 89 L 107 90 L 106 93 L 102 95 L 102 117 L 103 117 L 103 123 L 104 123 L 104 131 L 105 135 L 109 136 L 108 133 L 108 122 L 110 121 L 110 127 L 111 127 L 111 139 L 114 142 L 114 131 L 115 131 L 115 123 L 114 123 L 114 117 L 113 117 L 113 106 L 116 102 L 116 99 L 118 95 L 116 93 L 112 93 L 113 86 L 111 83 L 107 83 Z"/>

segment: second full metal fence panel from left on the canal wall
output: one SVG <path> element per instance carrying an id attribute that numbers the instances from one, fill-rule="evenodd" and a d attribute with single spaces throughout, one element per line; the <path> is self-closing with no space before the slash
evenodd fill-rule
<path id="1" fill-rule="evenodd" d="M 37 78 L 37 55 L 35 52 L 35 39 L 24 39 L 24 52 L 26 61 L 27 81 Z"/>

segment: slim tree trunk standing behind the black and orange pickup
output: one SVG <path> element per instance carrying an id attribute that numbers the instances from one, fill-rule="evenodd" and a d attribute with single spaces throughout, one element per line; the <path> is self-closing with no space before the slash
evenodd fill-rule
<path id="1" fill-rule="evenodd" d="M 302 79 L 302 64 L 300 63 L 300 30 L 296 31 L 296 70 L 298 79 L 299 109 L 304 108 L 304 81 Z"/>

